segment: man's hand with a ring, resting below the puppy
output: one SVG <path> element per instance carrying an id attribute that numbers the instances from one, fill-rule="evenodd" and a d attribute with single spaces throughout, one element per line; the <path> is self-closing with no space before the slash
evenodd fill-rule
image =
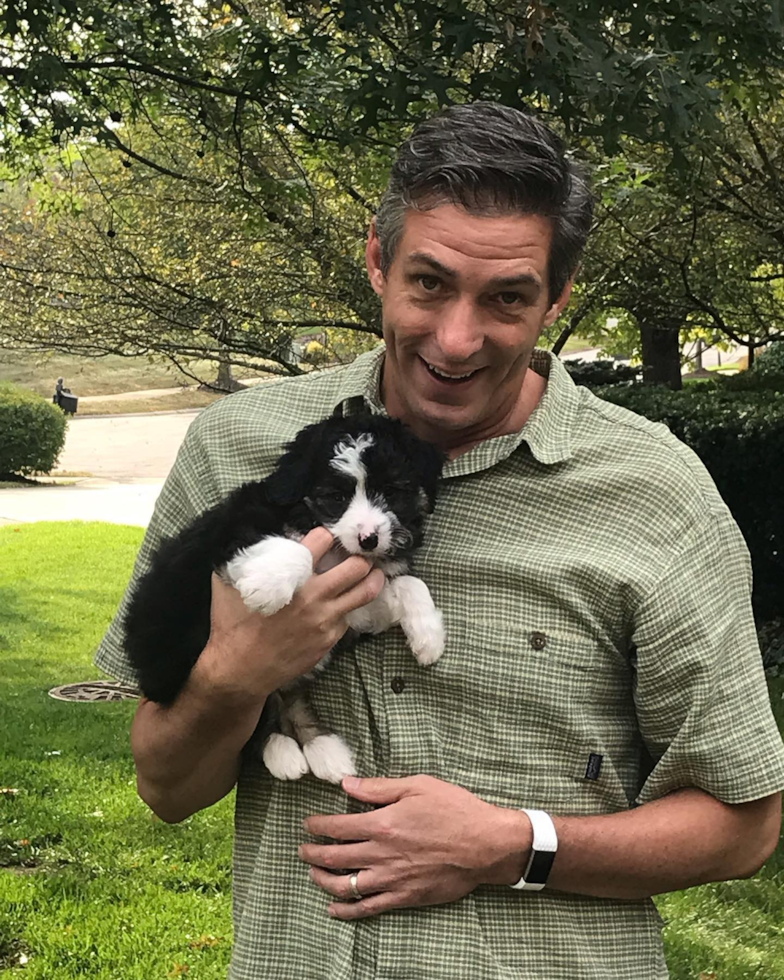
<path id="1" fill-rule="evenodd" d="M 341 899 L 329 907 L 335 918 L 454 902 L 478 885 L 512 884 L 522 874 L 532 836 L 525 814 L 432 776 L 348 777 L 343 789 L 380 808 L 309 817 L 309 833 L 345 843 L 304 844 L 299 852 L 316 884 Z M 351 870 L 359 872 L 361 901 L 353 900 Z"/>

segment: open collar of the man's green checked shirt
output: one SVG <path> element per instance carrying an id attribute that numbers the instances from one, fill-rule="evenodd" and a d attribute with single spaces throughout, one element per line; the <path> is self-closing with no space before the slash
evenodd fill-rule
<path id="1" fill-rule="evenodd" d="M 384 353 L 382 343 L 348 366 L 334 406 L 336 411 L 345 415 L 364 404 L 371 412 L 386 414 L 381 401 Z M 536 348 L 531 355 L 531 367 L 546 379 L 547 385 L 522 429 L 487 439 L 450 460 L 444 467 L 444 477 L 465 476 L 494 466 L 523 442 L 537 462 L 546 466 L 572 458 L 573 424 L 580 397 L 577 386 L 563 363 L 550 351 Z"/>

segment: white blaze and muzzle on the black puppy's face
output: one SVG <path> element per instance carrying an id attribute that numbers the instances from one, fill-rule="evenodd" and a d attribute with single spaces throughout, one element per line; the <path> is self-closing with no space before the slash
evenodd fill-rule
<path id="1" fill-rule="evenodd" d="M 350 476 L 356 481 L 357 489 L 342 517 L 330 531 L 340 540 L 349 554 L 385 554 L 392 540 L 392 523 L 390 514 L 368 500 L 366 484 L 367 469 L 362 462 L 362 453 L 373 445 L 373 436 L 366 432 L 354 438 L 350 436 L 335 447 L 335 454 L 330 460 L 330 466 Z M 378 538 L 377 544 L 371 549 L 364 549 L 361 539 L 367 540 L 371 535 Z"/>

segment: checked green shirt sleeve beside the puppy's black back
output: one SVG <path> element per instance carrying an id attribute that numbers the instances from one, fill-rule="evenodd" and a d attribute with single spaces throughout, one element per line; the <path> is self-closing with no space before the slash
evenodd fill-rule
<path id="1" fill-rule="evenodd" d="M 136 557 L 131 581 L 95 654 L 96 666 L 110 677 L 129 684 L 136 684 L 136 674 L 125 652 L 123 622 L 136 583 L 150 567 L 151 556 L 161 540 L 177 534 L 220 499 L 198 422 L 197 418 L 180 446 L 174 466 L 156 501 L 152 519 Z"/>

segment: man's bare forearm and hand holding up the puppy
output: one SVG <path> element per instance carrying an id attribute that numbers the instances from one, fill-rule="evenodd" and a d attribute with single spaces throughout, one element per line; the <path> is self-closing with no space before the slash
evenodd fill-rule
<path id="1" fill-rule="evenodd" d="M 302 544 L 315 564 L 332 540 L 316 528 Z M 351 557 L 311 576 L 289 605 L 262 617 L 214 575 L 210 638 L 187 685 L 169 707 L 143 699 L 134 717 L 131 748 L 145 803 L 176 823 L 224 797 L 267 696 L 312 670 L 345 632 L 346 615 L 383 584 L 378 569 Z"/>

